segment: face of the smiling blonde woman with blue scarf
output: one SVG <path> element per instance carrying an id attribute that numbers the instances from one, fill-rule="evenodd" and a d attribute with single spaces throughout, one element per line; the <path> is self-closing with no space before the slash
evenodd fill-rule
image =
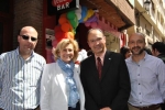
<path id="1" fill-rule="evenodd" d="M 59 50 L 59 57 L 63 62 L 69 63 L 74 58 L 73 44 L 67 44 L 64 48 Z"/>

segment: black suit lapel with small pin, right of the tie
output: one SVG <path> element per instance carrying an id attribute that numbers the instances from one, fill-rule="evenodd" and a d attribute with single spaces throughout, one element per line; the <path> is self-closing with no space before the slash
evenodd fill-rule
<path id="1" fill-rule="evenodd" d="M 105 55 L 105 59 L 103 59 L 101 80 L 103 79 L 105 75 L 107 74 L 110 63 L 111 63 L 111 53 L 107 51 L 106 55 Z"/>

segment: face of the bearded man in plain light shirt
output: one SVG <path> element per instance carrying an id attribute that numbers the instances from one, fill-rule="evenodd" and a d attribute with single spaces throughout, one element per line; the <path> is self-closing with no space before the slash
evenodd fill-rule
<path id="1" fill-rule="evenodd" d="M 129 37 L 129 47 L 133 55 L 141 55 L 145 47 L 145 38 L 142 34 L 135 33 Z"/>

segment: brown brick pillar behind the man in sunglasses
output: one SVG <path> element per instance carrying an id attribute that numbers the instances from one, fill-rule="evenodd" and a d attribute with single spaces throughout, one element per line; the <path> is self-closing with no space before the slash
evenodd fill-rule
<path id="1" fill-rule="evenodd" d="M 34 26 L 38 32 L 35 52 L 43 55 L 43 0 L 14 0 L 13 48 L 18 46 L 18 31 L 25 25 Z"/>

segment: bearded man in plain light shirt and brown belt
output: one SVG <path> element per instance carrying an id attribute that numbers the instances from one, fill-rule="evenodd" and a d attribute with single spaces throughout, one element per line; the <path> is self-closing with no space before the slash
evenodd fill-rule
<path id="1" fill-rule="evenodd" d="M 131 79 L 129 110 L 163 110 L 165 100 L 165 65 L 163 61 L 148 55 L 145 48 L 145 36 L 133 33 L 129 37 L 132 56 L 127 58 Z"/>

